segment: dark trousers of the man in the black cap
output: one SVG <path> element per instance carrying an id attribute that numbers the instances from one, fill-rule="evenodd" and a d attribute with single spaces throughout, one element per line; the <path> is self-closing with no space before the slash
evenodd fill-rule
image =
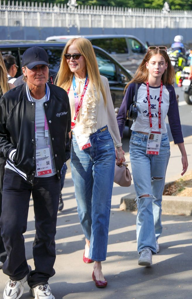
<path id="1" fill-rule="evenodd" d="M 30 273 L 28 285 L 34 287 L 47 283 L 49 277 L 55 274 L 53 266 L 60 187 L 57 175 L 35 178 L 30 184 L 16 172 L 5 169 L 0 226 L 8 254 L 2 269 L 10 279 L 20 280 L 29 272 L 23 234 L 27 230 L 31 193 L 36 227 L 33 242 L 35 270 Z"/>

